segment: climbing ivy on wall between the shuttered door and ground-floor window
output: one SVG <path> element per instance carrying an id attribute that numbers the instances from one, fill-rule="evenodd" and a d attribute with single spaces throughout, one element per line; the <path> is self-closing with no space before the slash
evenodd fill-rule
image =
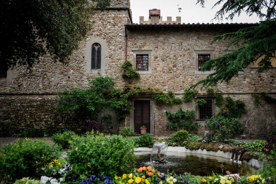
<path id="1" fill-rule="evenodd" d="M 184 127 L 190 131 L 191 129 L 197 129 L 198 124 L 195 122 L 196 119 L 196 111 L 194 110 L 183 110 L 181 107 L 175 113 L 171 113 L 170 111 L 166 111 L 168 119 L 171 121 L 168 122 L 166 126 L 170 129 L 177 130 L 177 128 Z"/>

